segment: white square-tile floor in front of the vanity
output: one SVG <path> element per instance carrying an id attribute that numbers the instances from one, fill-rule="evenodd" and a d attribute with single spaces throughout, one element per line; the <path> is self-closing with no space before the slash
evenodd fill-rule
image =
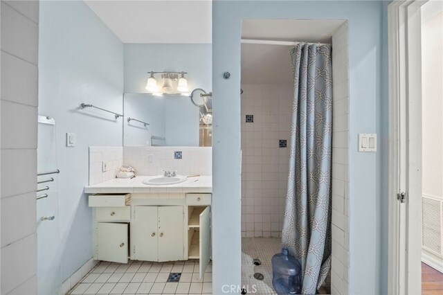
<path id="1" fill-rule="evenodd" d="M 212 294 L 213 266 L 203 280 L 199 260 L 177 262 L 101 261 L 68 294 Z M 167 283 L 170 273 L 181 273 L 179 283 Z"/>

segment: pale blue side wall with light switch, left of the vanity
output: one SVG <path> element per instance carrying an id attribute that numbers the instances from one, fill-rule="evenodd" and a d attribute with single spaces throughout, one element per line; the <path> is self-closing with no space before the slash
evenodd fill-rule
<path id="1" fill-rule="evenodd" d="M 40 1 L 38 111 L 56 122 L 62 280 L 92 257 L 88 147 L 123 138 L 123 118 L 79 110 L 82 102 L 121 114 L 123 44 L 83 1 Z M 66 132 L 75 147 L 65 147 Z"/>

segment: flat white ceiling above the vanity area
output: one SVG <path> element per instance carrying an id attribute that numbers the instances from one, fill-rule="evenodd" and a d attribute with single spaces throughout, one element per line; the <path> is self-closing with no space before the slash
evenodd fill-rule
<path id="1" fill-rule="evenodd" d="M 87 1 L 123 43 L 211 43 L 212 1 Z"/>

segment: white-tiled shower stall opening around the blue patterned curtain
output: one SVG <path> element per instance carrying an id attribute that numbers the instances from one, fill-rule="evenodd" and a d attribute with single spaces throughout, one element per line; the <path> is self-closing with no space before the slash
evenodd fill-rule
<path id="1" fill-rule="evenodd" d="M 348 72 L 343 20 L 247 19 L 242 23 L 242 287 L 273 294 L 287 195 L 296 42 L 332 44 L 332 270 L 320 293 L 347 294 Z M 334 236 L 334 233 L 336 235 Z M 334 264 L 340 271 L 334 270 Z"/>

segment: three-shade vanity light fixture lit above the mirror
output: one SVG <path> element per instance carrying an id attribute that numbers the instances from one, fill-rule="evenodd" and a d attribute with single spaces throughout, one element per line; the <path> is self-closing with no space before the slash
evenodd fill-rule
<path id="1" fill-rule="evenodd" d="M 146 90 L 154 95 L 162 94 L 182 94 L 188 95 L 188 80 L 185 78 L 187 72 L 148 72 L 150 76 L 147 78 Z M 157 80 L 154 75 L 161 75 L 163 85 L 158 87 Z M 181 77 L 179 78 L 179 75 Z M 177 88 L 174 87 L 173 81 L 177 81 Z"/>

